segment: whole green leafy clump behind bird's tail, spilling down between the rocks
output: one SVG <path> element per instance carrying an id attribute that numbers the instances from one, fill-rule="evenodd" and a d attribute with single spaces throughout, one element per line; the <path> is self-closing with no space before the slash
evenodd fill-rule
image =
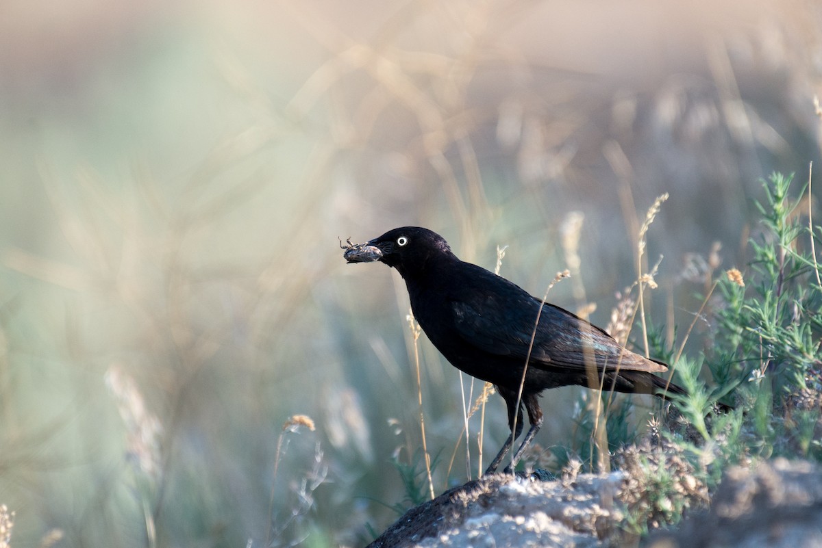
<path id="1" fill-rule="evenodd" d="M 822 272 L 815 257 L 820 227 L 812 226 L 810 213 L 803 219 L 801 199 L 789 198 L 791 182 L 792 177 L 778 174 L 764 181 L 764 201 L 756 204 L 762 220 L 750 239 L 748 272 L 731 269 L 713 281 L 711 292 L 718 297 L 710 299 L 709 293 L 704 299 L 714 326 L 709 350 L 675 363 L 677 381 L 689 394 L 677 398 L 681 427 L 660 431 L 664 456 L 686 458 L 695 481 L 709 489 L 731 464 L 772 456 L 822 459 Z M 667 355 L 653 333 L 651 345 Z M 706 387 L 705 375 L 713 378 L 713 388 Z M 720 399 L 734 401 L 736 409 L 714 410 Z M 648 491 L 641 497 L 626 495 L 631 532 L 644 532 L 648 523 L 676 521 L 677 512 L 668 509 L 681 509 L 676 496 L 681 489 L 674 488 L 671 474 L 653 454 L 621 458 Z"/>

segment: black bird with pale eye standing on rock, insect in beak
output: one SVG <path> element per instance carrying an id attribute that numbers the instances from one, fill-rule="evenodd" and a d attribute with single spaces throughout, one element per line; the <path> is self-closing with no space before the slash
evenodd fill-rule
<path id="1" fill-rule="evenodd" d="M 506 400 L 511 433 L 485 473 L 496 471 L 522 433 L 524 407 L 531 427 L 511 466 L 519 462 L 543 424 L 538 396 L 547 388 L 580 385 L 686 394 L 653 375 L 667 371 L 664 363 L 635 354 L 599 327 L 483 267 L 460 261 L 435 232 L 404 226 L 366 244 L 349 240 L 344 249 L 349 263 L 381 261 L 396 268 L 408 288 L 413 315 L 436 349 L 456 368 L 492 382 Z M 597 378 L 589 378 L 594 371 Z"/>

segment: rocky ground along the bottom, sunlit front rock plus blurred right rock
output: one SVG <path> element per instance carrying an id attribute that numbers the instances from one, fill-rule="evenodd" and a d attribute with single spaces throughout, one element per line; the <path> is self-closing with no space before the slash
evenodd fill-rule
<path id="1" fill-rule="evenodd" d="M 642 484 L 630 468 L 551 482 L 483 477 L 410 509 L 370 548 L 822 546 L 822 469 L 815 464 L 775 459 L 731 468 L 709 509 L 644 540 L 627 527 Z"/>

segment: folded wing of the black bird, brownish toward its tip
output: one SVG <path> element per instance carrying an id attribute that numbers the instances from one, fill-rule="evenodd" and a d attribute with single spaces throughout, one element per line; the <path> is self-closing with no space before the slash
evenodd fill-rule
<path id="1" fill-rule="evenodd" d="M 451 309 L 459 336 L 490 354 L 523 361 L 529 357 L 536 367 L 584 371 L 593 358 L 599 370 L 667 371 L 662 363 L 623 349 L 612 336 L 574 314 L 547 303 L 540 311 L 540 304 L 523 291 L 504 296 L 474 294 L 472 299 L 452 301 Z"/>

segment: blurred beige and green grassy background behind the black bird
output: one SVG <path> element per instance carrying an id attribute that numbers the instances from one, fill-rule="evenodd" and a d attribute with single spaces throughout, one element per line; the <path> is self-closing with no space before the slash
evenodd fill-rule
<path id="1" fill-rule="evenodd" d="M 579 212 L 584 299 L 566 281 L 550 300 L 605 326 L 668 193 L 642 260 L 671 333 L 713 268 L 744 267 L 760 178 L 796 172 L 798 194 L 822 169 L 810 0 L 2 13 L 12 546 L 362 546 L 410 504 L 418 392 L 402 281 L 346 265 L 338 237 L 427 226 L 489 269 L 508 246 L 501 274 L 542 295 Z M 419 349 L 438 494 L 476 477 L 478 416 L 469 462 L 460 429 L 481 386 Z M 579 394 L 543 398 L 543 447 Z M 487 464 L 498 396 L 486 415 Z"/>

